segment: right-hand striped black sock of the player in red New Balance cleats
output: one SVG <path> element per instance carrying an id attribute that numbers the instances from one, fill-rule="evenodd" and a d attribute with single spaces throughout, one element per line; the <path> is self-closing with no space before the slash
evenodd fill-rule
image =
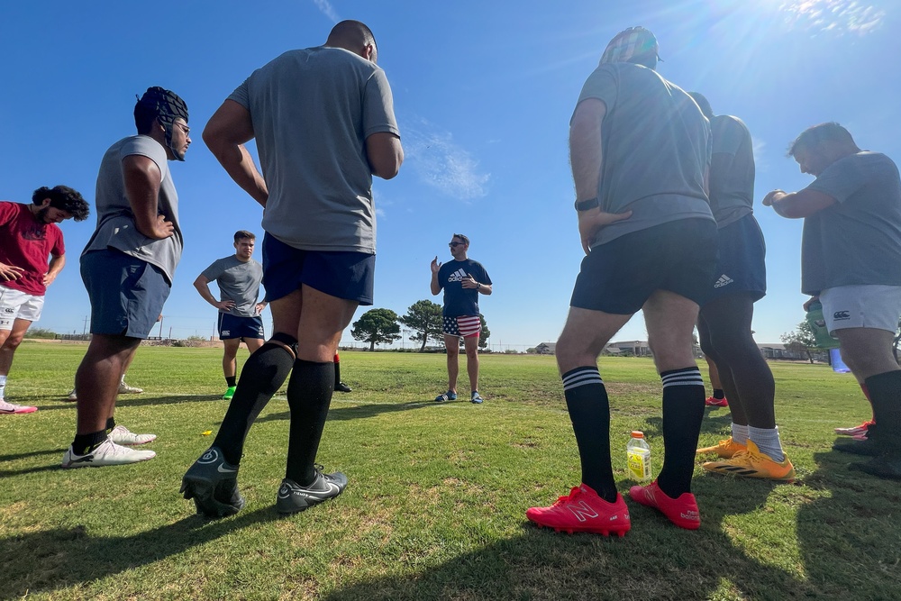
<path id="1" fill-rule="evenodd" d="M 704 380 L 696 367 L 672 369 L 663 380 L 663 469 L 660 489 L 673 498 L 691 492 L 697 437 L 704 419 Z"/>

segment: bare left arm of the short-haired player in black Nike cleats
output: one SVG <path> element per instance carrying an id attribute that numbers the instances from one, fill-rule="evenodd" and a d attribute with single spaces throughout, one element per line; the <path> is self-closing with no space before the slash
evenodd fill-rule
<path id="1" fill-rule="evenodd" d="M 244 144 L 253 140 L 250 112 L 226 100 L 204 128 L 204 141 L 214 157 L 238 186 L 260 205 L 266 206 L 268 188 Z"/>

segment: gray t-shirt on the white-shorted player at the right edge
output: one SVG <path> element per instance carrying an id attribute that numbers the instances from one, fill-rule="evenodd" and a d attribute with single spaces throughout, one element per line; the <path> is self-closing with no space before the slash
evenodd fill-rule
<path id="1" fill-rule="evenodd" d="M 901 286 L 901 179 L 892 159 L 862 151 L 836 160 L 806 187 L 832 196 L 804 220 L 801 291 Z"/>

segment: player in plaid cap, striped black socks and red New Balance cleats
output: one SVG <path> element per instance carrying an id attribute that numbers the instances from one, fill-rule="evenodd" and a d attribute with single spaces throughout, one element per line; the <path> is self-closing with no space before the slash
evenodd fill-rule
<path id="1" fill-rule="evenodd" d="M 569 122 L 586 257 L 556 354 L 581 483 L 553 505 L 526 511 L 557 531 L 623 535 L 631 527 L 611 467 L 610 404 L 597 357 L 642 309 L 663 383 L 666 459 L 657 480 L 629 494 L 679 527 L 701 524 L 690 491 L 704 380 L 691 349 L 716 263 L 705 191 L 710 129 L 694 101 L 654 70 L 657 50 L 642 27 L 616 35 Z"/>

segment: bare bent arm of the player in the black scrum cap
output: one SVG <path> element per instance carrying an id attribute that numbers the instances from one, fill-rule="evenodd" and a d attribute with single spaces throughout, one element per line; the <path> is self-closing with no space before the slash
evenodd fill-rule
<path id="1" fill-rule="evenodd" d="M 167 221 L 167 215 L 157 213 L 159 184 L 162 180 L 157 164 L 140 154 L 130 154 L 123 159 L 122 167 L 125 196 L 132 206 L 138 232 L 153 240 L 164 240 L 171 236 L 175 226 Z"/>

